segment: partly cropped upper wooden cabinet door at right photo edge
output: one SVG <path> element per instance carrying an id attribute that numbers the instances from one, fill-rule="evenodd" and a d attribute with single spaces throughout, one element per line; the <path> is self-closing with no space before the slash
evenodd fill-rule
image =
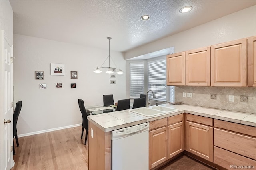
<path id="1" fill-rule="evenodd" d="M 248 86 L 256 87 L 256 36 L 248 39 Z"/>

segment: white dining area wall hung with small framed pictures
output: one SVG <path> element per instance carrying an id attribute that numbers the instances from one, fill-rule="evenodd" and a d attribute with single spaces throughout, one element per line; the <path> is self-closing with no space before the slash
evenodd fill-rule
<path id="1" fill-rule="evenodd" d="M 110 55 L 124 70 L 122 54 L 110 51 Z M 86 107 L 103 105 L 104 94 L 113 94 L 114 101 L 126 98 L 126 74 L 116 74 L 116 84 L 110 84 L 108 74 L 93 72 L 108 57 L 108 50 L 14 34 L 14 57 L 14 103 L 22 100 L 18 135 L 82 123 L 79 98 Z M 50 63 L 65 64 L 65 76 L 50 75 Z M 110 66 L 114 67 L 112 62 Z M 36 70 L 44 71 L 44 80 L 35 80 Z M 78 79 L 70 79 L 70 71 L 78 71 Z M 56 88 L 60 82 L 62 88 Z M 40 83 L 47 89 L 40 90 Z M 70 83 L 76 83 L 76 89 Z"/>

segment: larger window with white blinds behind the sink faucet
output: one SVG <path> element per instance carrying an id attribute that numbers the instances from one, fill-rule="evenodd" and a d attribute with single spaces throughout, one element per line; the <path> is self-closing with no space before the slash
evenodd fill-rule
<path id="1" fill-rule="evenodd" d="M 154 91 L 156 99 L 166 101 L 166 59 L 148 62 L 148 90 Z M 148 93 L 153 98 L 152 93 Z"/>

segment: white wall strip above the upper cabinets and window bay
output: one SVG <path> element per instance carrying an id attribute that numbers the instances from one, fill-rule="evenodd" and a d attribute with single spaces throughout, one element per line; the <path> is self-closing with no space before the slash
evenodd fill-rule
<path id="1" fill-rule="evenodd" d="M 256 6 L 251 6 L 184 32 L 131 49 L 124 54 L 124 58 L 130 59 L 169 47 L 174 47 L 175 53 L 178 53 L 255 35 Z"/>

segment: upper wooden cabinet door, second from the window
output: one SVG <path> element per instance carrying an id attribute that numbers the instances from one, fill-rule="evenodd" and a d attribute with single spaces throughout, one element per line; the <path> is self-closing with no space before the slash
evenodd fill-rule
<path id="1" fill-rule="evenodd" d="M 186 51 L 186 85 L 210 86 L 211 48 L 205 47 Z"/>

